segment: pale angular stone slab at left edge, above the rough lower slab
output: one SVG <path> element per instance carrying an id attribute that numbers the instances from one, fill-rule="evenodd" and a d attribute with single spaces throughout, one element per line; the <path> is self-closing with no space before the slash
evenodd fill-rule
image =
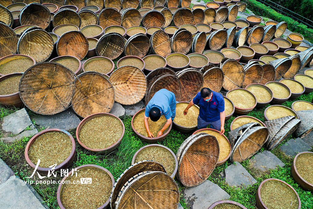
<path id="1" fill-rule="evenodd" d="M 13 134 L 21 133 L 28 126 L 33 125 L 26 109 L 20 109 L 3 118 L 2 129 Z"/>

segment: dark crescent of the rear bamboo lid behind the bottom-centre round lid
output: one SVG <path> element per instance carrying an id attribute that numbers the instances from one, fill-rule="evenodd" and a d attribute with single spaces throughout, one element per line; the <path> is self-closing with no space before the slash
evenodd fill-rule
<path id="1" fill-rule="evenodd" d="M 115 201 L 118 199 L 118 194 L 122 187 L 128 183 L 128 180 L 130 180 L 133 176 L 145 171 L 161 171 L 166 173 L 166 170 L 162 164 L 151 160 L 144 160 L 131 165 L 120 175 L 120 177 L 116 180 L 115 185 L 113 186 L 110 196 L 110 206 L 112 209 L 115 209 Z"/>

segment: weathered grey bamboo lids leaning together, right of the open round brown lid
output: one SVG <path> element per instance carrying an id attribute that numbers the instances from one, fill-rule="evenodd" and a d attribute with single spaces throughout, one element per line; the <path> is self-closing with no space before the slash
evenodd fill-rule
<path id="1" fill-rule="evenodd" d="M 300 122 L 301 120 L 295 118 L 295 116 L 265 121 L 265 125 L 269 129 L 269 139 L 266 143 L 267 149 L 275 149 L 298 128 Z"/>

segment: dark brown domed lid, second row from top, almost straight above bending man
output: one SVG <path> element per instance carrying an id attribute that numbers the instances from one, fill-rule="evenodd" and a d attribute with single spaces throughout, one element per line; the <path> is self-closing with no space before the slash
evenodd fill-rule
<path id="1" fill-rule="evenodd" d="M 165 17 L 161 12 L 157 10 L 151 10 L 142 17 L 141 23 L 145 28 L 149 27 L 163 28 L 165 25 Z"/>

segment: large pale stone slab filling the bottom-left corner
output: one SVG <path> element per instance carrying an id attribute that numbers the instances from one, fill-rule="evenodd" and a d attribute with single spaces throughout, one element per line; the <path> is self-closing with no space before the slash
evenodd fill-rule
<path id="1" fill-rule="evenodd" d="M 35 189 L 15 175 L 0 185 L 0 208 L 49 208 Z"/>

